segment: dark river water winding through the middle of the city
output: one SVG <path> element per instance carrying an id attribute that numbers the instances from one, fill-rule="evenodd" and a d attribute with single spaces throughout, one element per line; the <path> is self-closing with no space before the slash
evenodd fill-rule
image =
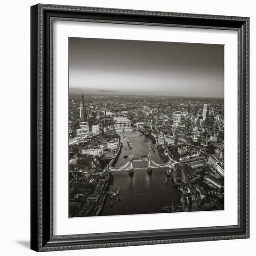
<path id="1" fill-rule="evenodd" d="M 127 118 L 117 117 L 118 120 L 128 120 Z M 116 132 L 121 136 L 121 142 L 127 145 L 128 139 L 133 140 L 133 148 L 122 147 L 121 154 L 115 164 L 115 167 L 121 167 L 129 161 L 124 158 L 129 153 L 134 158 L 141 158 L 141 155 L 151 153 L 154 162 L 164 163 L 159 155 L 156 145 L 153 144 L 149 137 L 141 136 L 141 132 L 134 130 L 131 126 L 117 125 Z M 120 129 L 121 128 L 121 129 Z M 123 131 L 123 128 L 125 129 Z M 127 129 L 128 128 L 128 129 Z M 153 145 L 148 146 L 148 143 Z M 145 158 L 145 156 L 144 156 Z M 133 162 L 134 167 L 146 167 L 148 162 Z M 172 202 L 179 202 L 180 192 L 173 186 L 172 182 L 165 182 L 165 168 L 153 168 L 152 174 L 148 174 L 147 169 L 134 170 L 134 175 L 128 175 L 128 171 L 112 172 L 114 178 L 113 185 L 108 185 L 108 191 L 115 191 L 118 187 L 120 191 L 120 201 L 115 197 L 112 199 L 108 196 L 105 205 L 101 211 L 101 216 L 109 215 L 128 215 L 128 214 L 149 214 L 161 213 L 162 206 L 171 205 Z"/>

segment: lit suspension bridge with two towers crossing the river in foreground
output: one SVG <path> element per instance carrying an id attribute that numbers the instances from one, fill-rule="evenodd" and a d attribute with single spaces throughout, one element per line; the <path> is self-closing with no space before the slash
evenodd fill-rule
<path id="1" fill-rule="evenodd" d="M 144 167 L 134 167 L 134 164 L 133 164 L 134 162 L 141 162 L 141 161 L 148 162 L 148 165 L 144 166 Z M 171 161 L 169 161 L 167 163 L 164 163 L 164 164 L 158 164 L 158 163 L 154 162 L 151 159 L 151 154 L 150 153 L 148 153 L 147 158 L 133 158 L 133 154 L 130 153 L 129 154 L 129 161 L 126 162 L 123 166 L 118 167 L 118 168 L 114 168 L 112 166 L 109 166 L 108 170 L 109 170 L 109 172 L 129 171 L 129 174 L 133 174 L 135 170 L 147 168 L 147 171 L 149 173 L 151 173 L 153 168 L 169 167 L 169 166 L 173 166 L 173 165 L 174 165 L 174 163 L 171 162 Z"/>

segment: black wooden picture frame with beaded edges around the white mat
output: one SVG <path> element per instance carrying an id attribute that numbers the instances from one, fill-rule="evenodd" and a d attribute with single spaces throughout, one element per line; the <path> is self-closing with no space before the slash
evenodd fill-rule
<path id="1" fill-rule="evenodd" d="M 53 236 L 52 23 L 79 20 L 238 31 L 238 225 Z M 85 230 L 86 232 L 86 230 Z M 38 4 L 31 7 L 31 249 L 86 249 L 249 237 L 249 18 Z"/>

